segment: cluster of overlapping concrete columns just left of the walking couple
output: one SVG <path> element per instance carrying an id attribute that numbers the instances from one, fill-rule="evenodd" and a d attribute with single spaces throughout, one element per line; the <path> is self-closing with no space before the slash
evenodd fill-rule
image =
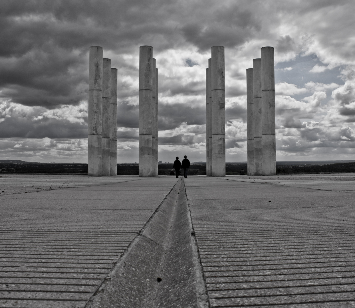
<path id="1" fill-rule="evenodd" d="M 158 176 L 158 68 L 152 46 L 139 49 L 139 176 Z"/>

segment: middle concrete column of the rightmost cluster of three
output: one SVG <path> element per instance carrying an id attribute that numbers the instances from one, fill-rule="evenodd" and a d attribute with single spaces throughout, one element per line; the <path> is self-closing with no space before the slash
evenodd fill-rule
<path id="1" fill-rule="evenodd" d="M 254 105 L 254 165 L 255 175 L 262 175 L 261 132 L 261 59 L 253 59 L 253 105 Z"/>

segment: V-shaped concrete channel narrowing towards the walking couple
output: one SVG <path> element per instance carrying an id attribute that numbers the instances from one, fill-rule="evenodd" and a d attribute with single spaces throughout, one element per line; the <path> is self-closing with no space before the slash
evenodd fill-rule
<path id="1" fill-rule="evenodd" d="M 85 307 L 210 307 L 191 228 L 181 177 Z"/>

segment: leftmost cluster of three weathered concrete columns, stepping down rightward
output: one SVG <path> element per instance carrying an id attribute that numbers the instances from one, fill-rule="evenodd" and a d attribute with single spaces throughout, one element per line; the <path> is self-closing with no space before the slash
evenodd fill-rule
<path id="1" fill-rule="evenodd" d="M 117 68 L 89 50 L 88 176 L 117 175 Z"/>

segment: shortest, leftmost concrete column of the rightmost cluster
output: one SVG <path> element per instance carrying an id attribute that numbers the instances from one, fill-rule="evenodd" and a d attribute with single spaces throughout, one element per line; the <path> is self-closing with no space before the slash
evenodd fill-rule
<path id="1" fill-rule="evenodd" d="M 246 70 L 246 117 L 247 117 L 247 158 L 248 175 L 255 174 L 254 165 L 254 104 L 253 104 L 253 69 Z"/>

